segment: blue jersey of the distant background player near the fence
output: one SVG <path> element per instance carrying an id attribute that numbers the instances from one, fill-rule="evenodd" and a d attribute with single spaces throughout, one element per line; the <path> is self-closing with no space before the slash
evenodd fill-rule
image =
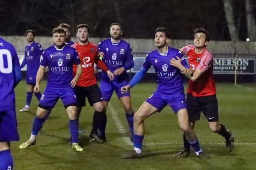
<path id="1" fill-rule="evenodd" d="M 41 44 L 32 42 L 25 47 L 25 59 L 27 64 L 27 76 L 36 76 L 40 65 L 40 56 L 44 52 Z"/>

